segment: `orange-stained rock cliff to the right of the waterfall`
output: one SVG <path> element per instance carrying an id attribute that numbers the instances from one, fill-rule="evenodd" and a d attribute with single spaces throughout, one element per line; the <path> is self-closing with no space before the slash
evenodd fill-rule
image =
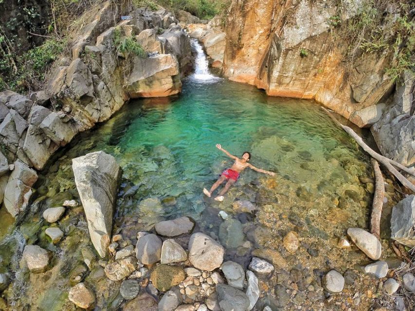
<path id="1" fill-rule="evenodd" d="M 372 127 L 385 156 L 411 165 L 414 74 L 405 73 L 395 83 L 386 69 L 397 61 L 391 36 L 398 18 L 409 22 L 414 15 L 402 17 L 402 6 L 394 2 L 370 10 L 368 5 L 364 0 L 234 0 L 223 31 L 219 20 L 215 27 L 193 24 L 188 29 L 204 44 L 212 66 L 220 67 L 230 80 L 252 84 L 271 96 L 314 99 L 360 127 Z M 375 42 L 382 46 L 362 37 L 364 30 L 356 30 L 368 28 L 371 18 L 383 32 L 383 41 Z M 360 36 L 353 37 L 356 33 Z M 226 47 L 213 52 L 216 38 Z"/>

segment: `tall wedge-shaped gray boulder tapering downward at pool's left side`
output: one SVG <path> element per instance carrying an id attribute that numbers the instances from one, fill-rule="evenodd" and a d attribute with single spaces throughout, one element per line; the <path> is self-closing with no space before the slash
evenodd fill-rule
<path id="1" fill-rule="evenodd" d="M 111 241 L 120 167 L 112 155 L 98 151 L 72 159 L 72 170 L 92 244 L 98 254 L 105 257 Z"/>

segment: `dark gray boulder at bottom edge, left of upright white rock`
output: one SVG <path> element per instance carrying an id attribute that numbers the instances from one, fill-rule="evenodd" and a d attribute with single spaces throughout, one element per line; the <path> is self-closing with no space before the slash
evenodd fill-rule
<path id="1" fill-rule="evenodd" d="M 222 311 L 247 311 L 250 301 L 246 294 L 225 284 L 216 285 L 217 301 Z"/>

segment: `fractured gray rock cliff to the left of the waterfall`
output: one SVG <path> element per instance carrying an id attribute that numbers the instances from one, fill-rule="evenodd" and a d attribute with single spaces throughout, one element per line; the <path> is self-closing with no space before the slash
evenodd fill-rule
<path id="1" fill-rule="evenodd" d="M 131 18 L 120 20 L 123 15 Z M 183 12 L 178 17 L 183 26 L 198 21 Z M 0 199 L 7 210 L 17 216 L 28 205 L 37 179 L 31 168 L 44 169 L 59 147 L 129 99 L 180 92 L 193 59 L 173 13 L 104 2 L 72 39 L 70 55 L 54 63 L 43 90 L 30 98 L 0 92 Z"/>

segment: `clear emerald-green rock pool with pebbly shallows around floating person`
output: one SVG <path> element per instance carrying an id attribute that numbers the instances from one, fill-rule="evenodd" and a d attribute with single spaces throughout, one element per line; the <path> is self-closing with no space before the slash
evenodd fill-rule
<path id="1" fill-rule="evenodd" d="M 207 198 L 202 189 L 233 162 L 216 143 L 236 156 L 251 152 L 254 166 L 276 175 L 247 169 L 223 202 Z M 369 157 L 352 138 L 312 101 L 272 98 L 253 86 L 192 75 L 180 95 L 132 101 L 105 124 L 74 138 L 39 175 L 29 214 L 16 227 L 7 215 L 0 217 L 0 272 L 9 271 L 16 279 L 8 293 L 16 310 L 74 308 L 67 291 L 72 276 L 87 274 L 83 249 L 91 247 L 82 207 L 68 208 L 60 221 L 66 238 L 57 245 L 46 238 L 41 215 L 65 199 L 79 200 L 72 158 L 98 150 L 115 156 L 123 169 L 113 234 L 122 233 L 135 244 L 137 231 L 190 216 L 196 230 L 226 247 L 225 259 L 244 266 L 253 256 L 272 261 L 276 272 L 261 282 L 264 301 L 276 296 L 290 308 L 319 310 L 324 307 L 322 273 L 333 267 L 345 272 L 367 262 L 357 249 L 336 247 L 347 228 L 367 228 L 373 195 Z M 389 207 L 397 202 L 391 182 L 386 197 Z M 234 201 L 239 200 L 253 203 L 256 212 L 238 210 Z M 220 210 L 231 220 L 224 222 Z M 289 231 L 300 241 L 295 255 L 283 244 Z M 19 269 L 25 241 L 52 251 L 53 268 L 44 274 Z M 389 253 L 385 247 L 385 257 Z M 97 295 L 97 308 L 103 310 L 118 296 L 98 268 L 86 281 L 104 293 Z M 337 295 L 332 307 L 361 289 L 361 306 L 353 310 L 367 310 L 372 296 L 364 293 L 373 286 L 367 278 L 358 276 L 354 288 Z"/>

